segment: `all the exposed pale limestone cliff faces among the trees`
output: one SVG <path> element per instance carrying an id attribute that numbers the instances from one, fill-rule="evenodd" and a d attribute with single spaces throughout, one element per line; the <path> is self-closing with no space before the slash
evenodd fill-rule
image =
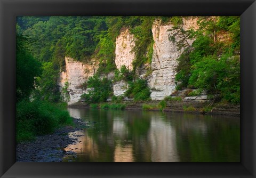
<path id="1" fill-rule="evenodd" d="M 182 18 L 184 30 L 198 29 L 197 17 Z M 175 37 L 175 41 L 179 41 L 182 36 L 175 35 L 172 31 L 172 23 L 162 23 L 161 20 L 155 20 L 151 28 L 154 45 L 153 56 L 151 63 L 151 74 L 146 76 L 146 71 L 143 68 L 137 69 L 137 73 L 141 78 L 148 81 L 150 88 L 150 98 L 152 100 L 162 100 L 165 96 L 169 96 L 175 91 L 175 68 L 178 65 L 177 59 L 183 52 L 183 48 L 178 50 L 176 43 L 170 40 L 170 36 Z M 115 64 L 117 69 L 121 66 L 126 66 L 127 69 L 132 70 L 132 61 L 135 59 L 134 51 L 136 38 L 130 33 L 129 29 L 123 29 L 116 38 L 115 43 Z M 189 44 L 193 43 L 193 39 L 187 39 Z M 60 91 L 68 82 L 67 91 L 70 96 L 69 104 L 78 102 L 80 96 L 86 93 L 89 88 L 85 88 L 83 83 L 87 81 L 90 76 L 93 76 L 98 69 L 98 61 L 91 59 L 89 63 L 82 63 L 74 59 L 65 57 L 66 68 L 60 73 L 58 85 Z M 144 66 L 145 68 L 145 66 Z M 110 72 L 108 79 L 113 79 L 114 74 Z M 123 80 L 113 83 L 114 95 L 119 96 L 124 94 L 127 90 L 127 83 Z"/>

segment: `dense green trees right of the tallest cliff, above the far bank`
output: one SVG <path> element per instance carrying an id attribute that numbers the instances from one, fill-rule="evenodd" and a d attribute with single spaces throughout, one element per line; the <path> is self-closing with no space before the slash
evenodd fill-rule
<path id="1" fill-rule="evenodd" d="M 239 24 L 239 17 L 203 17 L 198 30 L 182 31 L 195 41 L 192 45 L 177 42 L 184 48 L 175 78 L 178 90 L 198 88 L 214 99 L 239 103 Z M 177 29 L 181 29 L 179 23 L 172 30 Z"/>

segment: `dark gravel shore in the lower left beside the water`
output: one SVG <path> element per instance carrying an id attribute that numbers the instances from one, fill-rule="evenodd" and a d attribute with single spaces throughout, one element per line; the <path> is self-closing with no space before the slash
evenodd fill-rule
<path id="1" fill-rule="evenodd" d="M 73 126 L 59 128 L 53 134 L 37 136 L 34 141 L 17 144 L 16 155 L 19 162 L 61 162 L 63 157 L 76 157 L 73 151 L 65 151 L 69 144 L 75 144 L 77 138 L 75 131 L 88 127 L 88 123 L 79 118 L 73 118 Z M 70 137 L 68 133 L 74 132 Z"/>

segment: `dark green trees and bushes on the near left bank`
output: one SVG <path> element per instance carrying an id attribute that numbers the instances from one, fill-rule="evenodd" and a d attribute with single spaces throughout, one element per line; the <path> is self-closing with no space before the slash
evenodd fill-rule
<path id="1" fill-rule="evenodd" d="M 57 87 L 58 70 L 51 62 L 42 63 L 31 55 L 28 39 L 17 34 L 17 142 L 51 133 L 63 124 L 71 124 L 69 113 L 60 104 Z"/>

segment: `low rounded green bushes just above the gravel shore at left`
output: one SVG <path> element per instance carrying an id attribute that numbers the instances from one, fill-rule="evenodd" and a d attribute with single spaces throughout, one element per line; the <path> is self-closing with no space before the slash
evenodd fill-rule
<path id="1" fill-rule="evenodd" d="M 22 100 L 16 110 L 17 142 L 33 140 L 37 135 L 52 133 L 59 126 L 72 123 L 65 104 Z"/>

